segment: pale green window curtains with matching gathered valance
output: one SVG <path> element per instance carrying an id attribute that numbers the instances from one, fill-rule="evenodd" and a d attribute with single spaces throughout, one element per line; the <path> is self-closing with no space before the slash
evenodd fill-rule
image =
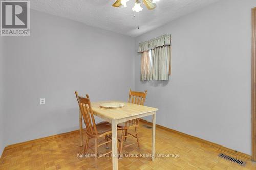
<path id="1" fill-rule="evenodd" d="M 141 81 L 169 80 L 170 50 L 170 35 L 168 34 L 139 44 L 138 52 L 141 53 Z M 151 51 L 151 56 L 149 51 Z"/>

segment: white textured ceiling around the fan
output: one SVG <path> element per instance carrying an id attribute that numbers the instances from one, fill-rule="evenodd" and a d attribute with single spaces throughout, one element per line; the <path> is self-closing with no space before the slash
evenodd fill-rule
<path id="1" fill-rule="evenodd" d="M 31 8 L 136 37 L 217 1 L 160 0 L 154 10 L 143 6 L 140 16 L 135 13 L 135 18 L 131 9 L 135 0 L 130 0 L 126 8 L 112 7 L 115 0 L 33 0 Z"/>

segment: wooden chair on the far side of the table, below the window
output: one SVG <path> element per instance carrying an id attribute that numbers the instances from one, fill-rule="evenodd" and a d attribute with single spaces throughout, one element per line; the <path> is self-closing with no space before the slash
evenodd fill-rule
<path id="1" fill-rule="evenodd" d="M 138 105 L 144 105 L 145 100 L 146 100 L 146 94 L 147 94 L 147 90 L 145 92 L 137 92 L 137 91 L 131 91 L 131 89 L 130 89 L 128 102 L 138 104 Z M 119 159 L 121 159 L 122 158 L 121 154 L 122 154 L 122 150 L 124 147 L 129 147 L 133 144 L 138 144 L 138 148 L 140 148 L 139 138 L 138 138 L 139 118 L 130 120 L 130 121 L 127 121 L 124 123 L 117 124 L 117 127 L 120 128 L 119 130 L 122 130 L 121 140 L 118 140 L 121 143 L 120 151 L 119 151 L 120 152 Z M 135 128 L 135 134 L 131 134 L 128 132 L 128 130 L 131 128 Z M 130 136 L 135 137 L 137 139 L 137 142 L 132 143 L 132 144 L 123 145 L 124 138 L 126 141 L 127 137 L 130 137 Z"/>

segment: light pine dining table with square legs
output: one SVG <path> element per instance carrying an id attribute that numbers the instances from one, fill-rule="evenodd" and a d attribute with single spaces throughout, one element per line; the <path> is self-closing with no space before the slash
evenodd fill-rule
<path id="1" fill-rule="evenodd" d="M 137 105 L 133 103 L 124 103 L 124 106 L 121 108 L 114 108 L 114 109 L 106 109 L 101 108 L 100 105 L 102 103 L 109 103 L 109 102 L 120 102 L 120 101 L 101 101 L 101 102 L 92 102 L 92 111 L 93 114 L 101 119 L 111 123 L 112 129 L 112 169 L 118 169 L 118 151 L 117 151 L 117 124 L 123 123 L 129 120 L 142 118 L 145 116 L 152 115 L 152 149 L 151 149 L 151 160 L 154 161 L 155 158 L 155 136 L 156 136 L 156 111 L 157 108 Z M 80 146 L 83 145 L 82 139 L 82 114 L 79 114 L 79 137 L 80 137 Z"/>

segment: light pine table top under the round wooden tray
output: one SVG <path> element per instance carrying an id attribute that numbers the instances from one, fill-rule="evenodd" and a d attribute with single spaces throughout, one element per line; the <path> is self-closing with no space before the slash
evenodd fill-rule
<path id="1" fill-rule="evenodd" d="M 118 120 L 118 119 L 128 118 L 132 116 L 137 116 L 144 113 L 155 112 L 158 110 L 157 108 L 137 105 L 133 103 L 127 103 L 127 102 L 122 102 L 125 104 L 125 106 L 121 108 L 116 108 L 116 109 L 101 108 L 100 104 L 106 103 L 106 102 L 120 102 L 120 101 L 92 102 L 91 106 L 92 106 L 93 114 L 101 118 L 107 118 L 109 120 L 113 120 L 113 119 Z"/>

